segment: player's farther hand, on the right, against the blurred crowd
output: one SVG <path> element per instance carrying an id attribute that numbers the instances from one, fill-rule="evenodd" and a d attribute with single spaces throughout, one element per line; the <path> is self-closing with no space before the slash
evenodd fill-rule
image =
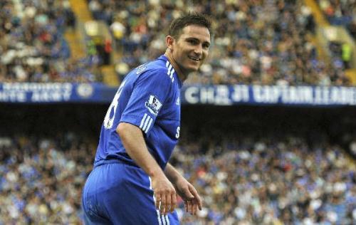
<path id="1" fill-rule="evenodd" d="M 177 194 L 184 200 L 185 211 L 196 215 L 197 209 L 201 210 L 202 202 L 195 187 L 187 179 L 181 177 L 175 184 Z"/>

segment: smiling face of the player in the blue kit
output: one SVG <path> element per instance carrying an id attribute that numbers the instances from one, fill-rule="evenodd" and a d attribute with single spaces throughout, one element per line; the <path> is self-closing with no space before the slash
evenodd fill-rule
<path id="1" fill-rule="evenodd" d="M 173 38 L 171 53 L 184 74 L 197 71 L 209 53 L 210 33 L 204 26 L 189 25 L 178 39 Z"/>

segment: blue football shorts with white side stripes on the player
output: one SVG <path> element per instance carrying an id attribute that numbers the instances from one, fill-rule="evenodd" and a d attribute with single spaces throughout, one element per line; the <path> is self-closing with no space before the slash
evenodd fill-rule
<path id="1" fill-rule="evenodd" d="M 83 189 L 85 224 L 179 224 L 175 211 L 159 215 L 150 187 L 139 167 L 116 160 L 95 164 Z"/>

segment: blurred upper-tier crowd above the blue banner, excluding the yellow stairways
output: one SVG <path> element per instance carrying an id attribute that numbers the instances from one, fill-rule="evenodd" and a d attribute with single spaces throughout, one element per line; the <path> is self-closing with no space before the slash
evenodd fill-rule
<path id="1" fill-rule="evenodd" d="M 355 3 L 346 2 L 350 4 L 339 4 L 340 10 L 350 9 L 347 15 L 354 15 L 348 6 Z M 90 49 L 86 58 L 68 59 L 63 32 L 75 28 L 68 0 L 6 0 L 0 6 L 0 82 L 102 80 L 100 56 L 92 57 Z M 318 58 L 310 39 L 315 30 L 313 15 L 303 1 L 88 0 L 88 8 L 95 19 L 107 23 L 113 45 L 122 53 L 113 62 L 120 78 L 164 53 L 164 36 L 172 19 L 198 11 L 214 21 L 214 44 L 209 61 L 187 83 L 350 85 L 344 61 Z"/>

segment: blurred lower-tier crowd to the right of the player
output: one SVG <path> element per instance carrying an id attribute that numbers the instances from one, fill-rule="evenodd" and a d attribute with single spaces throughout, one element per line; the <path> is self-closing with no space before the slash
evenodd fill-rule
<path id="1" fill-rule="evenodd" d="M 340 147 L 295 137 L 201 146 L 181 144 L 172 159 L 205 204 L 198 221 L 184 215 L 182 224 L 356 222 L 356 171 Z"/>

